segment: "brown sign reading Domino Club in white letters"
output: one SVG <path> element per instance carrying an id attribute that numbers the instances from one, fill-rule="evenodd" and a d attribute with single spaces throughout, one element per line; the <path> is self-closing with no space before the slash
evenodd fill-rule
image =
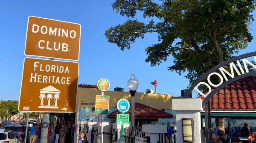
<path id="1" fill-rule="evenodd" d="M 79 60 L 81 25 L 29 16 L 25 55 Z"/>

